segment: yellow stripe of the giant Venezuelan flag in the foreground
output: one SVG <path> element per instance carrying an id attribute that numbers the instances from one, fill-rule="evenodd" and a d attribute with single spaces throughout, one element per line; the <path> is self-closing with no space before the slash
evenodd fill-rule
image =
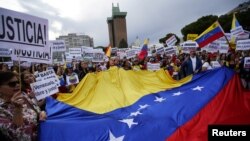
<path id="1" fill-rule="evenodd" d="M 79 109 L 106 113 L 132 105 L 145 95 L 179 87 L 192 76 L 176 81 L 164 70 L 126 71 L 111 67 L 97 74 L 90 73 L 71 94 L 59 94 L 58 100 Z"/>

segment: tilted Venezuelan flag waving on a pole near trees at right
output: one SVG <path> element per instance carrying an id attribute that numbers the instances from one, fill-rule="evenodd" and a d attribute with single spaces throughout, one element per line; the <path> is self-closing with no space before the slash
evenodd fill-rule
<path id="1" fill-rule="evenodd" d="M 199 47 L 202 48 L 207 44 L 219 39 L 224 36 L 224 31 L 221 28 L 218 21 L 213 23 L 209 28 L 202 32 L 195 41 L 199 44 Z"/>

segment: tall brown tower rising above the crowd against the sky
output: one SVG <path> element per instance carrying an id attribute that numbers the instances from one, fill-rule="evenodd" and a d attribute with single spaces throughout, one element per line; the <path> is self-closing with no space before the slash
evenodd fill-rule
<path id="1" fill-rule="evenodd" d="M 112 17 L 107 18 L 109 41 L 112 47 L 128 47 L 126 15 L 127 12 L 120 12 L 119 4 L 117 7 L 112 4 Z"/>

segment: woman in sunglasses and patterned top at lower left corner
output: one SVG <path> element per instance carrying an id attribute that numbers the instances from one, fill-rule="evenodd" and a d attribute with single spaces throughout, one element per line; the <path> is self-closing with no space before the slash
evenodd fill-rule
<path id="1" fill-rule="evenodd" d="M 1 140 L 37 140 L 38 115 L 27 106 L 13 72 L 0 72 Z"/>

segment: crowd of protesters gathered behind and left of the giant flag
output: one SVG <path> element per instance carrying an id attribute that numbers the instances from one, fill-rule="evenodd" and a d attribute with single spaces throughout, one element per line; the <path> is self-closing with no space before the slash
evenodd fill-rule
<path id="1" fill-rule="evenodd" d="M 244 67 L 244 58 L 250 57 L 250 50 L 229 53 L 208 53 L 190 51 L 178 55 L 157 54 L 140 60 L 138 56 L 120 59 L 109 58 L 108 62 L 75 61 L 67 64 L 32 64 L 30 67 L 0 64 L 0 139 L 37 140 L 37 127 L 46 120 L 45 101 L 36 100 L 30 87 L 36 81 L 38 72 L 54 69 L 60 80 L 59 92 L 70 93 L 77 84 L 68 85 L 67 76 L 75 75 L 81 81 L 88 73 L 99 73 L 110 67 L 124 70 L 147 70 L 148 63 L 159 63 L 173 79 L 180 80 L 190 74 L 214 69 L 211 62 L 217 61 L 221 67 L 228 67 L 240 75 L 242 85 L 250 89 L 250 68 Z M 218 66 L 216 66 L 218 67 Z"/>

